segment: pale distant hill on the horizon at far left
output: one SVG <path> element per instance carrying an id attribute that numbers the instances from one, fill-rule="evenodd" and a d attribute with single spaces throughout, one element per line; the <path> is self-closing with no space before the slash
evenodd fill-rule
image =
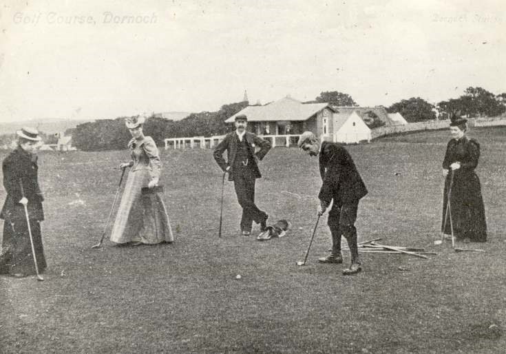
<path id="1" fill-rule="evenodd" d="M 69 128 L 75 128 L 78 124 L 92 122 L 90 120 L 78 120 L 78 119 L 63 119 L 63 118 L 39 118 L 30 119 L 28 121 L 19 122 L 0 122 L 0 135 L 2 134 L 13 134 L 21 127 L 34 127 L 39 129 L 40 132 L 45 134 L 54 134 L 59 132 L 65 132 Z"/>

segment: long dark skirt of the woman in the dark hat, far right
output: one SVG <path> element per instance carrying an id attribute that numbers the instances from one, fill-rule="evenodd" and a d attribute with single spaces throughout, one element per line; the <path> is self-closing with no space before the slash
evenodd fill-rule
<path id="1" fill-rule="evenodd" d="M 469 238 L 472 242 L 487 241 L 487 221 L 478 176 L 474 171 L 455 171 L 450 189 L 451 173 L 445 180 L 441 231 L 450 235 L 453 227 L 456 238 Z M 450 208 L 447 209 L 449 191 Z"/>

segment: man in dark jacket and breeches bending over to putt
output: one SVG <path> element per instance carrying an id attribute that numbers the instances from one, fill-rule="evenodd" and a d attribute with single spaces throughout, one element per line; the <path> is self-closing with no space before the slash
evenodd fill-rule
<path id="1" fill-rule="evenodd" d="M 344 275 L 361 271 L 357 245 L 357 209 L 359 200 L 367 194 L 366 185 L 360 177 L 355 163 L 344 147 L 324 141 L 320 144 L 312 132 L 304 132 L 297 145 L 310 156 L 319 156 L 319 171 L 323 184 L 318 194 L 320 203 L 317 213 L 323 215 L 333 201 L 328 212 L 328 227 L 332 233 L 332 253 L 319 258 L 321 263 L 342 263 L 341 236 L 348 241 L 351 253 L 351 266 L 344 269 Z"/>

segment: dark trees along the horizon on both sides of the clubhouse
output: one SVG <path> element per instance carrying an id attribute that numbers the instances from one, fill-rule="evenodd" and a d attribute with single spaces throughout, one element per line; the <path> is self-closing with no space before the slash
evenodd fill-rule
<path id="1" fill-rule="evenodd" d="M 329 103 L 337 107 L 357 107 L 358 104 L 349 94 L 337 91 L 321 92 L 314 101 L 306 103 Z M 151 116 L 144 126 L 146 135 L 151 136 L 157 145 L 164 145 L 165 138 L 182 138 L 186 136 L 222 135 L 233 129 L 224 123 L 226 118 L 233 116 L 249 105 L 248 101 L 222 105 L 217 112 L 192 113 L 181 121 L 170 121 L 158 116 Z M 385 107 L 388 113 L 399 112 L 409 123 L 447 119 L 458 114 L 467 117 L 499 116 L 506 112 L 506 93 L 494 95 L 482 87 L 467 87 L 463 95 L 432 104 L 420 97 L 401 100 Z M 124 149 L 131 138 L 125 127 L 125 118 L 99 119 L 77 125 L 68 129 L 65 135 L 72 134 L 72 144 L 84 151 Z M 378 116 L 369 112 L 366 122 L 370 128 L 379 127 Z M 0 145 L 8 144 L 15 135 L 0 136 Z M 43 134 L 44 142 L 56 143 L 57 137 Z"/>

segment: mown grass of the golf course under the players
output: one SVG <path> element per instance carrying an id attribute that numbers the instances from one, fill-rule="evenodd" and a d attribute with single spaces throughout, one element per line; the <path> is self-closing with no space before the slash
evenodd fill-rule
<path id="1" fill-rule="evenodd" d="M 425 247 L 430 260 L 362 253 L 363 271 L 317 264 L 321 218 L 306 267 L 321 185 L 317 158 L 275 148 L 260 163 L 257 204 L 287 218 L 285 238 L 238 236 L 240 207 L 210 150 L 162 151 L 161 183 L 176 242 L 98 242 L 128 152 L 43 154 L 45 282 L 0 277 L 0 353 L 504 353 L 506 128 L 474 129 L 489 241 L 454 253 L 439 238 L 449 132 L 348 147 L 369 194 L 360 240 Z M 5 153 L 1 156 L 3 158 Z M 5 198 L 1 189 L 0 199 Z M 401 271 L 399 269 L 407 269 Z M 240 280 L 235 275 L 242 275 Z"/>

